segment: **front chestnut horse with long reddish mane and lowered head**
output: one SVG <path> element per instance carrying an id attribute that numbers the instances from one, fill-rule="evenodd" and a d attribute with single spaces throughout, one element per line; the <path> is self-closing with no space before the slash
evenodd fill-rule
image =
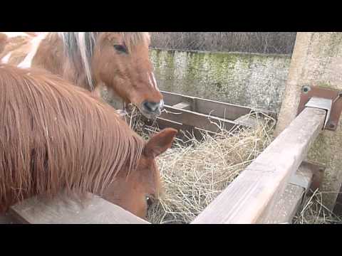
<path id="1" fill-rule="evenodd" d="M 46 70 L 0 64 L 0 211 L 24 198 L 95 193 L 145 218 L 160 193 L 155 157 L 177 133 L 148 142 L 113 107 Z"/>

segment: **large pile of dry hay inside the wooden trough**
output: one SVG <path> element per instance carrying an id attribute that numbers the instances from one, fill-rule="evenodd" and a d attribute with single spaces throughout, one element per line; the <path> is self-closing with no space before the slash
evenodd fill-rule
<path id="1" fill-rule="evenodd" d="M 264 151 L 272 140 L 274 119 L 260 113 L 251 118 L 257 121 L 255 128 L 203 134 L 200 142 L 187 134 L 187 144 L 176 140 L 157 158 L 164 193 L 149 211 L 151 223 L 190 223 Z M 138 112 L 130 125 L 146 139 L 157 130 L 155 125 L 145 127 Z"/>

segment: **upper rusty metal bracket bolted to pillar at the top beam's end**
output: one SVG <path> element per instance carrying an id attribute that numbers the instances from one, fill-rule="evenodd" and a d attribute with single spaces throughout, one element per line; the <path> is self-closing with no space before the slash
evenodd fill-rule
<path id="1" fill-rule="evenodd" d="M 313 100 L 313 98 L 331 100 L 330 112 L 327 113 L 324 129 L 335 131 L 338 126 L 338 120 L 340 119 L 342 112 L 342 92 L 337 90 L 328 90 L 326 88 L 306 85 L 301 89 L 301 98 L 299 101 L 297 114 L 302 112 L 305 107 L 308 107 L 306 106 L 306 104 L 309 102 L 309 100 Z M 316 100 L 314 100 L 313 102 L 311 101 L 309 105 L 311 105 L 311 103 L 315 103 L 315 101 Z M 322 105 L 319 108 L 323 108 L 324 110 L 328 111 L 328 101 L 326 102 L 325 107 L 322 107 Z M 316 106 L 311 105 L 311 107 Z"/>

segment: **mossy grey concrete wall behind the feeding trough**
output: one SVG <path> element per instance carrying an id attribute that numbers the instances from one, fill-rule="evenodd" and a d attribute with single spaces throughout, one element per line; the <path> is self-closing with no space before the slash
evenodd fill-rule
<path id="1" fill-rule="evenodd" d="M 279 111 L 291 57 L 150 50 L 160 90 Z"/>

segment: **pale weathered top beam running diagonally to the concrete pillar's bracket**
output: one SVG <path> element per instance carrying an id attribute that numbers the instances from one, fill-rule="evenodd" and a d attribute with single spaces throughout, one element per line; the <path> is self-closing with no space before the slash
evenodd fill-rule
<path id="1" fill-rule="evenodd" d="M 323 128 L 325 110 L 306 108 L 192 223 L 262 223 Z"/>

